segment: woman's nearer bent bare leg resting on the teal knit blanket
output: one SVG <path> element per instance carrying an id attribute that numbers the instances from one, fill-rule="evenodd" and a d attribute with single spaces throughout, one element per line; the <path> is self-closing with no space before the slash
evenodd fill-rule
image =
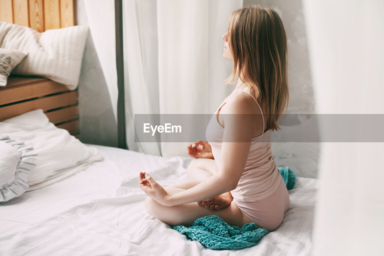
<path id="1" fill-rule="evenodd" d="M 166 190 L 169 193 L 183 191 L 183 189 L 180 188 L 170 187 L 167 187 Z M 222 218 L 231 226 L 242 227 L 245 223 L 252 222 L 240 211 L 233 201 L 227 207 L 219 210 L 210 210 L 197 203 L 164 206 L 150 197 L 147 197 L 145 205 L 149 214 L 172 226 L 192 226 L 196 219 L 212 214 Z"/>

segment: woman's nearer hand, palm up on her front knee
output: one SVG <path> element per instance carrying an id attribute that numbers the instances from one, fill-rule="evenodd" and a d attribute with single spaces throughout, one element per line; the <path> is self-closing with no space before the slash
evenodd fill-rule
<path id="1" fill-rule="evenodd" d="M 139 175 L 139 187 L 150 198 L 154 199 L 157 203 L 168 206 L 170 194 L 148 173 L 140 172 Z"/>

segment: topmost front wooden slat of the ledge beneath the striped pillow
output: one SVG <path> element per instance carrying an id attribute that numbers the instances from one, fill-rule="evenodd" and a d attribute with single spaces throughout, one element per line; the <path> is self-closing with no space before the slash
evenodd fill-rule
<path id="1" fill-rule="evenodd" d="M 65 85 L 51 80 L 40 81 L 34 84 L 11 87 L 8 90 L 2 90 L 0 105 L 37 98 L 53 93 L 69 91 Z"/>

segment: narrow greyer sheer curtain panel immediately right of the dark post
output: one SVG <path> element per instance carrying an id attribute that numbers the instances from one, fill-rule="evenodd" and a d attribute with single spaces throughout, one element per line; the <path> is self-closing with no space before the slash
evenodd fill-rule
<path id="1" fill-rule="evenodd" d="M 134 114 L 159 113 L 156 24 L 156 1 L 123 0 L 127 146 L 151 155 L 161 155 L 160 145 L 134 142 Z"/>

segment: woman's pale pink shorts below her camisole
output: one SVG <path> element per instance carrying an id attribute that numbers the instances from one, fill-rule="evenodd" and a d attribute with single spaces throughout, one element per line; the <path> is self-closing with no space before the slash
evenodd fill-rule
<path id="1" fill-rule="evenodd" d="M 267 198 L 242 202 L 233 198 L 237 207 L 254 223 L 268 231 L 275 230 L 283 222 L 284 213 L 290 206 L 290 198 L 283 177 L 280 177 L 280 185 L 277 190 Z"/>

